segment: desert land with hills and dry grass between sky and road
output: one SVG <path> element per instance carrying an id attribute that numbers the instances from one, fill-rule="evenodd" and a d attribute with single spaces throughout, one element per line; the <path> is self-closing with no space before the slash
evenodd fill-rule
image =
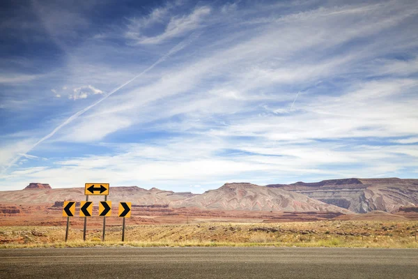
<path id="1" fill-rule="evenodd" d="M 418 210 L 414 203 L 417 181 L 370 182 L 346 179 L 293 186 L 227 183 L 201 195 L 115 187 L 109 200 L 114 204 L 132 201 L 132 217 L 125 220 L 123 242 L 122 218 L 117 217 L 115 208 L 114 214 L 106 218 L 102 241 L 103 217 L 98 216 L 98 201 L 102 197 L 91 199 L 93 217 L 86 220 L 83 241 L 84 218 L 78 212 L 79 202 L 85 198 L 84 189 L 53 189 L 47 184 L 31 183 L 24 190 L 0 193 L 0 248 L 418 248 Z M 67 218 L 62 215 L 65 200 L 77 202 L 67 242 Z"/>

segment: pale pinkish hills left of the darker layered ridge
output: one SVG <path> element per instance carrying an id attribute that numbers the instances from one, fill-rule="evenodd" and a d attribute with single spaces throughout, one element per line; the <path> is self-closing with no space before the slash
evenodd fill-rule
<path id="1" fill-rule="evenodd" d="M 34 183 L 31 183 L 33 185 Z M 0 194 L 0 204 L 57 204 L 64 200 L 82 201 L 84 188 L 52 189 L 33 186 L 24 190 L 4 191 Z M 203 210 L 241 210 L 241 211 L 290 211 L 290 212 L 341 212 L 347 209 L 311 199 L 300 193 L 279 188 L 267 188 L 251 183 L 226 183 L 224 186 L 209 190 L 201 195 L 192 193 L 174 193 L 172 191 L 151 188 L 146 190 L 137 186 L 112 187 L 109 192 L 112 202 L 129 200 L 132 204 L 166 205 L 171 208 L 196 208 Z M 98 202 L 100 196 L 90 196 L 89 200 Z"/>

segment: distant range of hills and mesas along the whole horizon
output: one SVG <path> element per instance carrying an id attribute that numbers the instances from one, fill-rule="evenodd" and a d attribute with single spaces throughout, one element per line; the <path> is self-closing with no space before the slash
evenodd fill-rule
<path id="1" fill-rule="evenodd" d="M 31 186 L 31 187 L 29 187 Z M 63 200 L 82 201 L 84 188 L 50 188 L 49 184 L 30 183 L 25 190 L 0 192 L 0 204 L 55 204 Z M 91 196 L 98 202 L 101 196 Z M 176 193 L 137 186 L 111 187 L 113 202 L 129 200 L 138 205 L 168 205 L 171 208 L 202 210 L 290 211 L 367 213 L 396 212 L 418 206 L 418 179 L 332 179 L 315 183 L 257 186 L 251 183 L 226 183 L 203 194 Z"/>

